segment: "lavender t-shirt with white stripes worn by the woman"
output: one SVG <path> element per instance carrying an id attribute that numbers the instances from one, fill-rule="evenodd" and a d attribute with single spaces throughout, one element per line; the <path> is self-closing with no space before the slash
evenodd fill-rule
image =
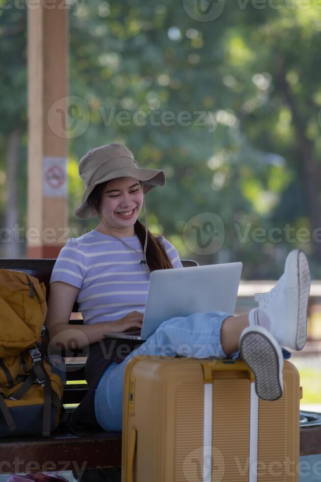
<path id="1" fill-rule="evenodd" d="M 80 288 L 77 302 L 86 324 L 145 311 L 150 275 L 140 264 L 144 252 L 137 236 L 123 239 L 140 258 L 121 241 L 96 230 L 69 239 L 58 255 L 50 283 L 64 281 Z M 173 267 L 182 268 L 175 247 L 163 236 L 158 239 Z"/>

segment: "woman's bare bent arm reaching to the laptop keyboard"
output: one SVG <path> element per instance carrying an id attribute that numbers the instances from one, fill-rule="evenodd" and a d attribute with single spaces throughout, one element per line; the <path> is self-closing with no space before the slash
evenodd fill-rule
<path id="1" fill-rule="evenodd" d="M 107 333 L 141 327 L 143 315 L 138 311 L 132 311 L 116 321 L 93 323 L 92 325 L 68 325 L 79 291 L 80 289 L 76 286 L 63 281 L 55 281 L 50 285 L 45 325 L 48 328 L 51 343 L 54 344 L 53 350 L 58 346 L 67 347 L 71 336 L 81 348 L 102 340 Z"/>

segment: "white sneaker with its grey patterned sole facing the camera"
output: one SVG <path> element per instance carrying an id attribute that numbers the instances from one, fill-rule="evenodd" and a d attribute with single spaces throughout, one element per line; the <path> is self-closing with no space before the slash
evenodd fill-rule
<path id="1" fill-rule="evenodd" d="M 240 358 L 251 368 L 255 391 L 264 400 L 277 400 L 283 393 L 283 354 L 277 341 L 263 327 L 247 327 L 240 337 Z"/>

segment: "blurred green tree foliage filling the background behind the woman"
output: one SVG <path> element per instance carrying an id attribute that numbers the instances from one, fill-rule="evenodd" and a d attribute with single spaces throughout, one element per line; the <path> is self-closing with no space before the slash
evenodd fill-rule
<path id="1" fill-rule="evenodd" d="M 170 0 L 90 0 L 82 9 L 73 4 L 70 95 L 88 105 L 89 124 L 70 141 L 70 225 L 92 229 L 97 224 L 97 219 L 73 215 L 83 192 L 78 160 L 94 147 L 123 142 L 141 166 L 165 171 L 165 187 L 146 197 L 148 220 L 153 231 L 175 241 L 182 256 L 200 264 L 219 259 L 217 254 L 196 256 L 183 242 L 185 223 L 203 212 L 223 219 L 223 249 L 231 261 L 242 259 L 244 277 L 274 277 L 278 260 L 295 246 L 315 254 L 313 242 L 292 244 L 282 238 L 281 243 L 262 244 L 251 236 L 241 242 L 234 227 L 238 223 L 242 232 L 247 224 L 267 231 L 289 222 L 313 227 L 294 114 L 319 176 L 321 10 L 313 2 L 305 10 L 286 4 L 280 0 L 280 9 L 267 4 L 258 9 L 250 1 L 228 2 L 210 22 L 193 20 L 182 2 Z M 10 45 L 3 34 L 15 14 L 12 8 L 0 17 L 1 42 L 6 42 L 2 55 L 9 64 L 1 86 L 9 79 L 8 119 L 16 112 L 26 119 L 21 47 L 26 31 L 12 34 Z M 22 19 L 17 17 L 17 25 Z M 128 125 L 117 118 L 122 111 Z M 137 111 L 145 113 L 144 125 L 134 122 Z M 160 121 L 166 111 L 172 112 L 173 125 Z M 189 123 L 183 111 L 190 114 Z M 197 122 L 199 111 L 204 112 L 203 125 Z M 3 136 L 12 128 L 10 122 L 4 124 L 2 120 Z M 3 137 L 0 170 L 4 147 Z"/>

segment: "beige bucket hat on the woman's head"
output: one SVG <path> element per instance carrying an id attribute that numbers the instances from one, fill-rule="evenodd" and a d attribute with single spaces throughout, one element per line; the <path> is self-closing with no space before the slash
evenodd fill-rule
<path id="1" fill-rule="evenodd" d="M 143 181 L 143 193 L 166 182 L 164 171 L 143 169 L 135 161 L 133 153 L 123 144 L 110 143 L 87 152 L 79 162 L 79 175 L 84 181 L 85 192 L 76 216 L 86 219 L 98 214 L 88 204 L 88 196 L 102 182 L 128 177 Z"/>

